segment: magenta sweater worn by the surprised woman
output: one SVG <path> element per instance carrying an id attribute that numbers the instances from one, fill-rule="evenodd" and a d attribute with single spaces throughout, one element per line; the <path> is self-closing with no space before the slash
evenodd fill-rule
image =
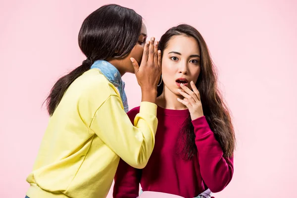
<path id="1" fill-rule="evenodd" d="M 136 107 L 128 112 L 133 122 L 139 112 Z M 147 166 L 135 169 L 120 160 L 115 175 L 114 198 L 136 198 L 139 184 L 143 191 L 163 192 L 194 198 L 209 188 L 213 193 L 222 191 L 233 176 L 233 157 L 223 157 L 205 117 L 193 120 L 197 155 L 184 160 L 178 154 L 180 131 L 189 110 L 157 108 L 158 128 L 155 146 Z M 128 145 L 129 147 L 129 145 Z"/>

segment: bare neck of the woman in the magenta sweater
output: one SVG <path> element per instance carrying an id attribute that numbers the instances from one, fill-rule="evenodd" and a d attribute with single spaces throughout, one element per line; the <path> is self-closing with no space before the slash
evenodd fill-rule
<path id="1" fill-rule="evenodd" d="M 187 107 L 180 103 L 177 98 L 184 99 L 182 96 L 178 96 L 171 92 L 165 85 L 162 94 L 157 98 L 156 104 L 165 109 L 182 110 Z"/>

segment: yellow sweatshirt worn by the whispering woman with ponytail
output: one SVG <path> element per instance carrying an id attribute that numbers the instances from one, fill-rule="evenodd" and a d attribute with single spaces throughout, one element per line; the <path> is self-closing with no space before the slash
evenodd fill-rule
<path id="1" fill-rule="evenodd" d="M 29 198 L 105 198 L 119 159 L 144 168 L 154 146 L 157 106 L 142 102 L 134 126 L 99 69 L 77 78 L 49 119 Z"/>

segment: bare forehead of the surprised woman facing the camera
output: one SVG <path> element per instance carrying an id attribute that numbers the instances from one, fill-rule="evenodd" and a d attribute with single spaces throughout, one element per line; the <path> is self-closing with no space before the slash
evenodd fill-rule
<path id="1" fill-rule="evenodd" d="M 165 51 L 177 51 L 180 52 L 182 55 L 200 55 L 200 49 L 196 39 L 183 35 L 171 37 Z"/>

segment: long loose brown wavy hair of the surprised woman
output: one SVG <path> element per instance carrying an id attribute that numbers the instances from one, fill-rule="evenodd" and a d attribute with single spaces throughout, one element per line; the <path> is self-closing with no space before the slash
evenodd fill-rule
<path id="1" fill-rule="evenodd" d="M 200 48 L 201 71 L 198 76 L 196 87 L 200 93 L 200 99 L 203 107 L 203 113 L 206 120 L 213 131 L 216 140 L 220 143 L 224 156 L 233 156 L 235 149 L 235 133 L 231 121 L 231 116 L 227 105 L 225 104 L 221 92 L 217 86 L 217 73 L 215 65 L 213 64 L 206 43 L 194 27 L 182 24 L 170 28 L 160 39 L 158 48 L 162 55 L 164 49 L 167 48 L 168 42 L 173 36 L 184 35 L 193 37 L 198 42 Z M 164 84 L 158 87 L 158 95 L 163 92 Z M 182 156 L 184 159 L 191 159 L 197 153 L 195 144 L 194 126 L 192 124 L 191 116 L 186 119 L 182 128 L 183 148 Z"/>

